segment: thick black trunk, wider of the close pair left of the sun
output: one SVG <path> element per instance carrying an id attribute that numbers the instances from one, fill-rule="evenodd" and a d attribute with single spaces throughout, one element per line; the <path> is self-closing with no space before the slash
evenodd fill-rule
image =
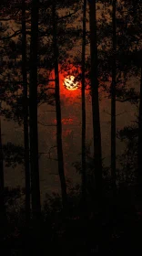
<path id="1" fill-rule="evenodd" d="M 37 129 L 37 45 L 38 45 L 38 8 L 39 1 L 32 1 L 31 45 L 30 45 L 30 86 L 29 86 L 29 124 L 30 124 L 30 167 L 32 212 L 34 219 L 40 218 L 40 185 L 38 165 L 38 129 Z"/>

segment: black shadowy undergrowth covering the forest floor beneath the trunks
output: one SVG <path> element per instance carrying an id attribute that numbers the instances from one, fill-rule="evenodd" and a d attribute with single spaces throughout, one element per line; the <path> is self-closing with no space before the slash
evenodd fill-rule
<path id="1" fill-rule="evenodd" d="M 36 228 L 32 219 L 25 223 L 24 191 L 5 189 L 6 221 L 5 232 L 1 234 L 4 255 L 137 253 L 142 219 L 131 194 L 132 188 L 119 187 L 113 215 L 110 193 L 106 193 L 101 218 L 96 214 L 95 202 L 90 200 L 87 201 L 86 217 L 82 218 L 78 185 L 68 191 L 66 216 L 61 197 L 56 193 L 46 195 L 40 225 Z"/>

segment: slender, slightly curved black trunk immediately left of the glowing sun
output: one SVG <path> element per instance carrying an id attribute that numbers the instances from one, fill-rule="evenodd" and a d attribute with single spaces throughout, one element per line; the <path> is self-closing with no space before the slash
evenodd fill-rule
<path id="1" fill-rule="evenodd" d="M 66 208 L 66 177 L 64 170 L 64 157 L 62 146 L 62 122 L 61 122 L 61 105 L 60 105 L 60 85 L 58 72 L 58 47 L 56 38 L 56 3 L 53 3 L 53 45 L 55 57 L 55 81 L 56 81 L 56 143 L 57 143 L 57 157 L 58 157 L 58 173 L 61 183 L 61 193 L 63 208 Z"/>

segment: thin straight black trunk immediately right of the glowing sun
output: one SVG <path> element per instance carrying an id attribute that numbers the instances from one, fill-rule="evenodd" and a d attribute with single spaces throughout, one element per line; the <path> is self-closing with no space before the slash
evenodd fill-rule
<path id="1" fill-rule="evenodd" d="M 86 208 L 86 0 L 83 4 L 83 38 L 82 38 L 82 202 Z"/>

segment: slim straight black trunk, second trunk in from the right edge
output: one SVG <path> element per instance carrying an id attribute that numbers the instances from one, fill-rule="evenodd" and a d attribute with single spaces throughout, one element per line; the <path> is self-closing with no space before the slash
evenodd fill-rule
<path id="1" fill-rule="evenodd" d="M 116 32 L 116 5 L 113 0 L 113 65 L 112 65 L 112 84 L 111 84 L 111 177 L 113 193 L 116 194 L 116 50 L 117 50 L 117 32 Z"/>

